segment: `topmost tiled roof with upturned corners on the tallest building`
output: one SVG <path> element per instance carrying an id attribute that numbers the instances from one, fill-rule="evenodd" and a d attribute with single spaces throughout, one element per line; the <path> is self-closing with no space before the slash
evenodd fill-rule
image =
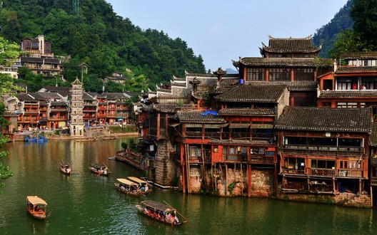
<path id="1" fill-rule="evenodd" d="M 321 46 L 313 46 L 311 36 L 307 38 L 273 38 L 268 36 L 268 38 L 268 46 L 262 43 L 264 51 L 311 53 L 321 50 Z"/>

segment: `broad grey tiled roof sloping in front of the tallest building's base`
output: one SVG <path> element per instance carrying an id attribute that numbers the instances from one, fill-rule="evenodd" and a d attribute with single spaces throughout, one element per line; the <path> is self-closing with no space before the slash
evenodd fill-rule
<path id="1" fill-rule="evenodd" d="M 216 95 L 225 102 L 277 102 L 283 95 L 286 85 L 239 85 L 231 90 Z"/>

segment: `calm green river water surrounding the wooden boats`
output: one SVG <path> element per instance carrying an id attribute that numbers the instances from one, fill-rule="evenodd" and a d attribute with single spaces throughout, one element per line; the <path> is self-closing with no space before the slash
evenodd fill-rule
<path id="1" fill-rule="evenodd" d="M 108 160 L 129 139 L 46 143 L 11 142 L 2 162 L 14 176 L 0 194 L 0 234 L 377 234 L 377 211 L 274 199 L 225 198 L 156 189 L 134 198 L 114 188 L 116 178 L 141 176 L 124 162 Z M 71 162 L 71 176 L 59 162 Z M 109 177 L 89 171 L 104 162 Z M 49 204 L 47 218 L 26 213 L 26 196 L 38 195 Z M 138 214 L 145 199 L 166 201 L 189 219 L 171 227 Z"/>

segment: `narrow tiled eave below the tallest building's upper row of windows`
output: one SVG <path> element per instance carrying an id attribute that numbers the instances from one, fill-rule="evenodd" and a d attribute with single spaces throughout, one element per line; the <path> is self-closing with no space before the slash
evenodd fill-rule
<path id="1" fill-rule="evenodd" d="M 317 90 L 318 83 L 312 80 L 294 80 L 291 81 L 246 81 L 248 85 L 286 85 L 288 90 Z"/>

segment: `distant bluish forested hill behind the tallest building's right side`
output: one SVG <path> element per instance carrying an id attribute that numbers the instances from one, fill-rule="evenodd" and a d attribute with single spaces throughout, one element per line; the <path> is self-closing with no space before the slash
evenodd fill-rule
<path id="1" fill-rule="evenodd" d="M 329 51 L 333 48 L 333 43 L 336 41 L 336 36 L 342 30 L 351 29 L 353 26 L 353 19 L 350 16 L 352 0 L 348 0 L 347 4 L 334 16 L 334 18 L 326 25 L 318 28 L 313 35 L 313 43 L 315 45 L 322 44 L 322 50 L 319 53 L 321 58 L 330 58 Z M 326 6 L 323 6 L 326 7 Z"/>

